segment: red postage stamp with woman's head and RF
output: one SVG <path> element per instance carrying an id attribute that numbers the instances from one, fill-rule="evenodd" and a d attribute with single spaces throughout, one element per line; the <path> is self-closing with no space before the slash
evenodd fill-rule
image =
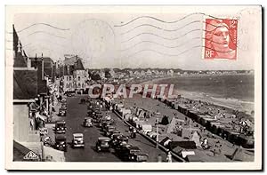
<path id="1" fill-rule="evenodd" d="M 206 19 L 204 59 L 237 60 L 238 20 Z"/>

